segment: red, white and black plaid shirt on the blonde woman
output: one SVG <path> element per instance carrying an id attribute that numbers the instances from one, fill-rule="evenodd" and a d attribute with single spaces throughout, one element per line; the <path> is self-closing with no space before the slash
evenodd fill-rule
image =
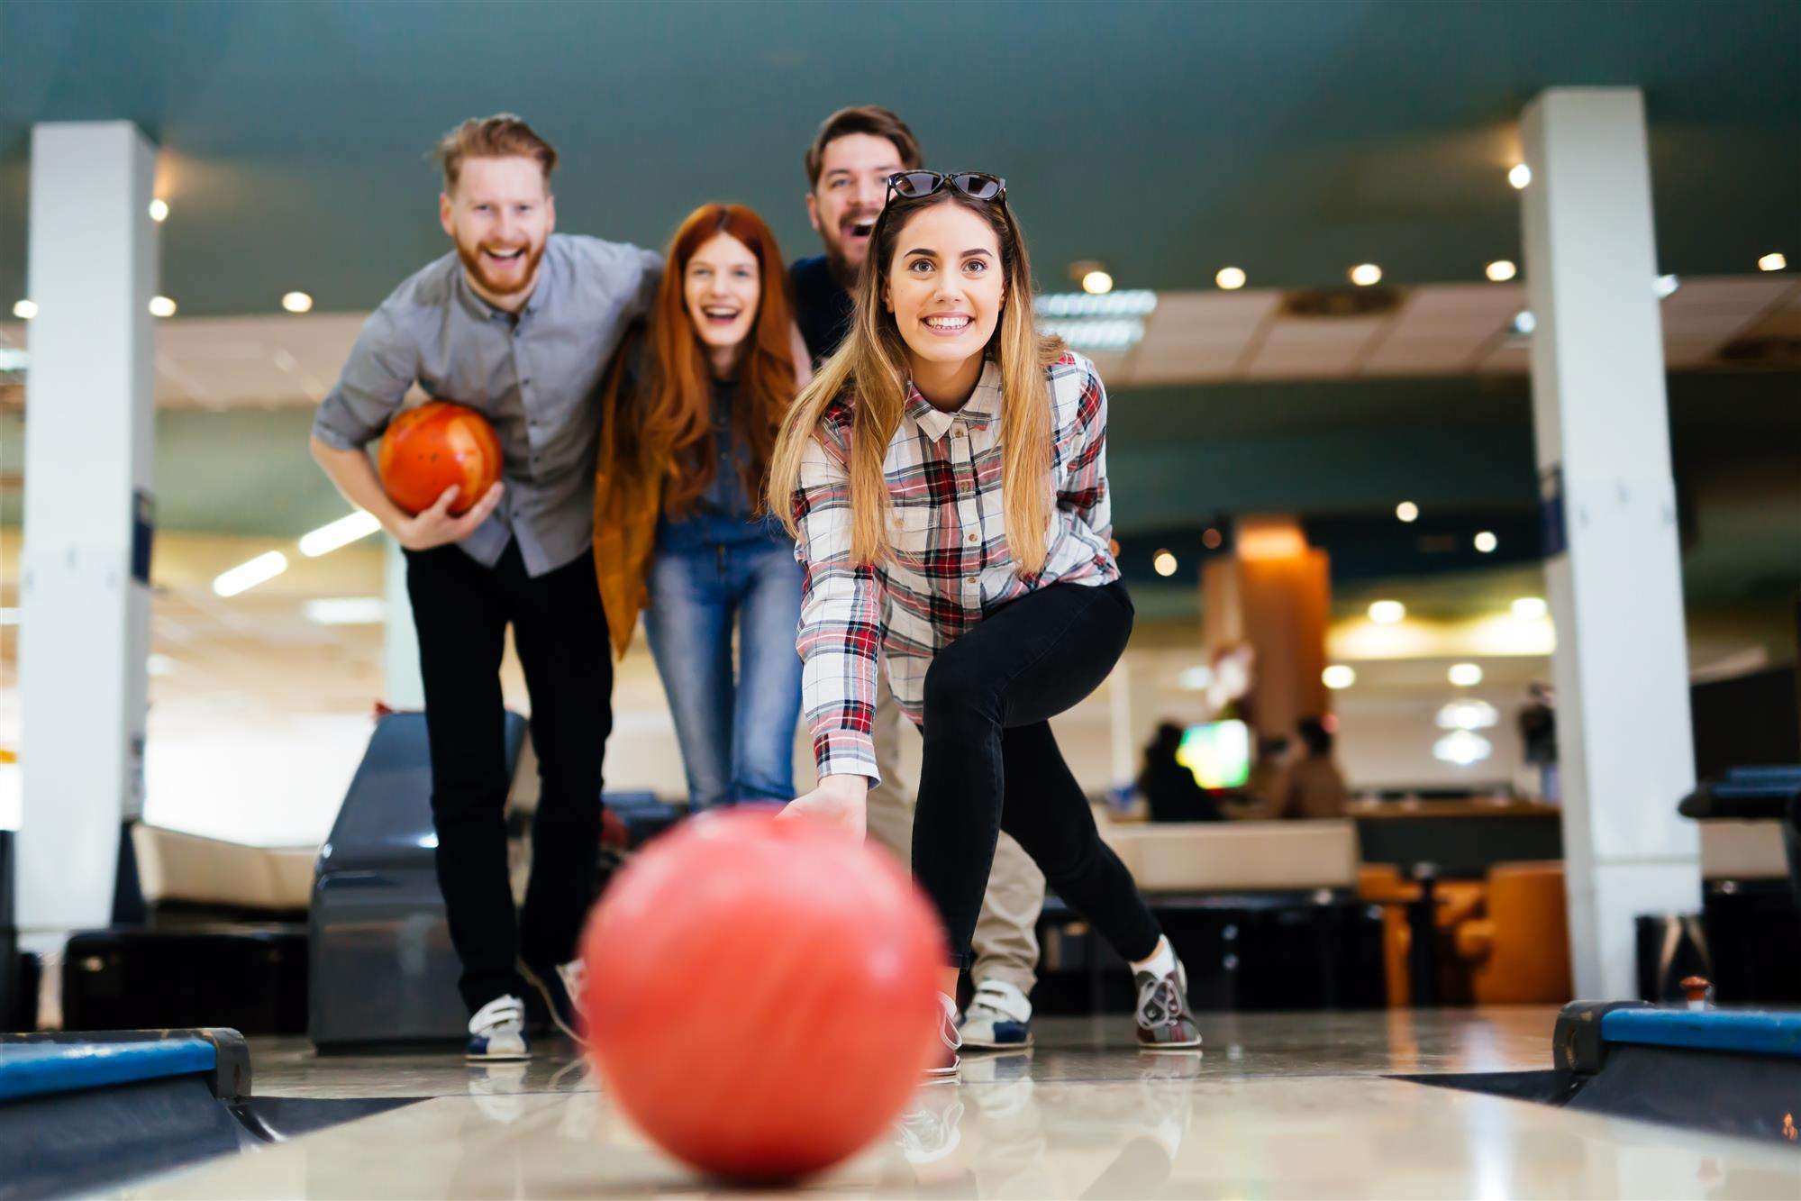
<path id="1" fill-rule="evenodd" d="M 1001 373 L 991 360 L 974 394 L 940 412 L 908 385 L 906 409 L 882 470 L 888 540 L 882 565 L 850 556 L 852 407 L 836 400 L 801 461 L 794 556 L 805 569 L 798 650 L 801 708 L 819 776 L 879 780 L 870 724 L 881 657 L 900 711 L 922 715 L 926 668 L 940 646 L 1001 605 L 1050 583 L 1118 580 L 1108 540 L 1108 394 L 1095 366 L 1064 353 L 1050 380 L 1055 502 L 1045 569 L 1021 576 L 1001 510 Z"/>

